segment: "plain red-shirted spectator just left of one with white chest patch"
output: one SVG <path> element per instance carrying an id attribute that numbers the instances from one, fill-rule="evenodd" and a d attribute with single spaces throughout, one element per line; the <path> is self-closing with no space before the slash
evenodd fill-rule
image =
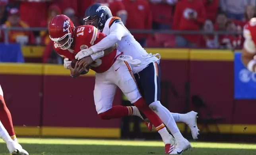
<path id="1" fill-rule="evenodd" d="M 155 30 L 170 29 L 173 6 L 177 0 L 150 0 L 152 13 L 152 28 Z"/>

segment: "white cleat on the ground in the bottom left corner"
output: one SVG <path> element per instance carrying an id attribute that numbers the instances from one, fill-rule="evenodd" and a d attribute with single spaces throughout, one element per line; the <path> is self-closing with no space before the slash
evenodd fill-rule
<path id="1" fill-rule="evenodd" d="M 21 145 L 15 141 L 8 141 L 6 143 L 10 155 L 29 155 L 26 150 L 22 149 Z"/>

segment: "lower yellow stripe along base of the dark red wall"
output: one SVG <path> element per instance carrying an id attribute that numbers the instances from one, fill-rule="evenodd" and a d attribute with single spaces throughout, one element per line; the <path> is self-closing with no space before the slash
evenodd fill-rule
<path id="1" fill-rule="evenodd" d="M 184 132 L 184 123 L 177 123 L 180 132 Z M 201 129 L 201 125 L 198 128 Z M 218 133 L 215 125 L 208 125 L 210 132 Z M 256 134 L 256 125 L 218 124 L 220 134 Z M 144 123 L 142 132 L 150 132 Z M 130 124 L 130 131 L 133 124 Z M 120 138 L 120 128 L 90 128 L 90 127 L 14 127 L 17 136 L 59 136 L 59 137 L 91 137 L 91 138 Z M 189 132 L 188 128 L 188 132 Z M 154 129 L 152 132 L 156 132 Z M 200 130 L 200 133 L 208 133 Z"/>

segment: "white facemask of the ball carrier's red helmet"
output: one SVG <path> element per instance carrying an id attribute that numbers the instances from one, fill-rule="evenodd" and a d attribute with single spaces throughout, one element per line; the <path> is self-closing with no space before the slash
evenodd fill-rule
<path id="1" fill-rule="evenodd" d="M 72 45 L 73 38 L 72 38 L 72 33 L 67 33 L 61 38 L 52 38 L 50 36 L 50 39 L 54 41 L 55 45 L 60 48 L 60 49 L 69 49 Z"/>

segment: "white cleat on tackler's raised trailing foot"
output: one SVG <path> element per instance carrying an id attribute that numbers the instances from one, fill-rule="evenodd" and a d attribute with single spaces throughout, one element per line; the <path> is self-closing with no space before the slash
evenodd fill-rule
<path id="1" fill-rule="evenodd" d="M 197 123 L 196 123 L 196 119 L 197 117 L 197 112 L 191 111 L 186 113 L 186 118 L 184 119 L 184 123 L 186 123 L 188 125 L 188 127 L 191 130 L 191 134 L 194 140 L 198 139 L 198 134 L 199 134 L 199 129 L 197 127 Z"/>

